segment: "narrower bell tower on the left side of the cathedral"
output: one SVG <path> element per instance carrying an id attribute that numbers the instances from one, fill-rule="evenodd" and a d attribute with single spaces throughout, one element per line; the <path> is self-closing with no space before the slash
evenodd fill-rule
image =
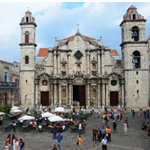
<path id="1" fill-rule="evenodd" d="M 20 54 L 20 94 L 21 106 L 34 107 L 34 76 L 35 76 L 35 56 L 36 43 L 35 31 L 36 23 L 32 13 L 28 10 L 21 19 L 21 43 Z"/>

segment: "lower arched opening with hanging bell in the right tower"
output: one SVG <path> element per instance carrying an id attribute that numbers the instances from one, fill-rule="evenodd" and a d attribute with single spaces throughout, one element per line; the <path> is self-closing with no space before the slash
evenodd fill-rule
<path id="1" fill-rule="evenodd" d="M 134 51 L 132 54 L 132 64 L 134 68 L 140 68 L 140 52 Z"/>

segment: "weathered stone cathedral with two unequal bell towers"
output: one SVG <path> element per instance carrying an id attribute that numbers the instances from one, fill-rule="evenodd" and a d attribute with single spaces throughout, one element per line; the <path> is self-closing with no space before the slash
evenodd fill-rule
<path id="1" fill-rule="evenodd" d="M 23 107 L 86 108 L 147 107 L 149 80 L 145 22 L 131 5 L 120 23 L 122 59 L 102 38 L 82 35 L 55 39 L 54 47 L 40 48 L 36 63 L 36 22 L 28 10 L 22 17 L 20 94 Z"/>

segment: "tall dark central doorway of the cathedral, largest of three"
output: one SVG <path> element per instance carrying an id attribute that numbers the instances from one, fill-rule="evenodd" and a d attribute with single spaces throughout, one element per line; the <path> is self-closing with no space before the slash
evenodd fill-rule
<path id="1" fill-rule="evenodd" d="M 85 85 L 73 86 L 73 100 L 79 101 L 80 106 L 85 106 Z"/>

